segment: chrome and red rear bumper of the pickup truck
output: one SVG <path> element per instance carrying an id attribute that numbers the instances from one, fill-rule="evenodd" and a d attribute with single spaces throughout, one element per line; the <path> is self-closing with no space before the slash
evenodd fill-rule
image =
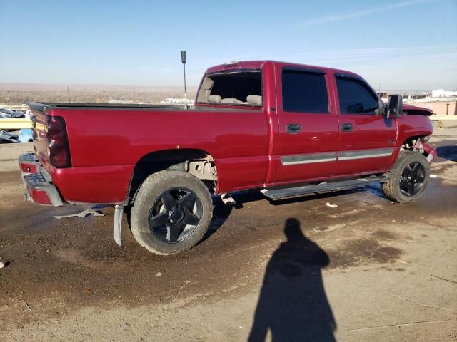
<path id="1" fill-rule="evenodd" d="M 27 201 L 54 207 L 64 205 L 59 191 L 51 184 L 51 176 L 41 167 L 34 153 L 27 152 L 21 155 L 19 167 L 21 168 Z"/>

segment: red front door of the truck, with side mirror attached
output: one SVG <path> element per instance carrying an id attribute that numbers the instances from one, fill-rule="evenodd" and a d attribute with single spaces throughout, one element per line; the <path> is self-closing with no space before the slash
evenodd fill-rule
<path id="1" fill-rule="evenodd" d="M 386 171 L 396 142 L 396 121 L 378 114 L 378 95 L 362 78 L 336 73 L 338 161 L 335 175 Z"/>

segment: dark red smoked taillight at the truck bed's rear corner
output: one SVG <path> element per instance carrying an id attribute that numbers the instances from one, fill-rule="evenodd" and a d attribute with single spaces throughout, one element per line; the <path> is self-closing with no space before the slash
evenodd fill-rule
<path id="1" fill-rule="evenodd" d="M 70 167 L 70 148 L 64 118 L 46 116 L 46 140 L 48 142 L 51 165 L 55 167 Z"/>

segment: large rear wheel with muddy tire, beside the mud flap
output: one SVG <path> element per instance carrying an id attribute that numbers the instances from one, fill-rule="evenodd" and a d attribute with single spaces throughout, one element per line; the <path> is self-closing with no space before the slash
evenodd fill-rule
<path id="1" fill-rule="evenodd" d="M 130 227 L 149 252 L 176 254 L 200 242 L 212 215 L 211 195 L 201 180 L 187 172 L 160 171 L 141 185 L 131 208 Z"/>

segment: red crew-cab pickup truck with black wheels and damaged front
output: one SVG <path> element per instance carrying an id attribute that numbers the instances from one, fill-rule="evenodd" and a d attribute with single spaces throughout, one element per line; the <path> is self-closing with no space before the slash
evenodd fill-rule
<path id="1" fill-rule="evenodd" d="M 209 68 L 192 109 L 29 103 L 34 152 L 19 157 L 26 198 L 113 204 L 143 247 L 174 254 L 211 222 L 211 194 L 258 189 L 275 200 L 381 182 L 421 195 L 436 156 L 426 108 L 384 104 L 361 76 L 277 61 Z"/>

